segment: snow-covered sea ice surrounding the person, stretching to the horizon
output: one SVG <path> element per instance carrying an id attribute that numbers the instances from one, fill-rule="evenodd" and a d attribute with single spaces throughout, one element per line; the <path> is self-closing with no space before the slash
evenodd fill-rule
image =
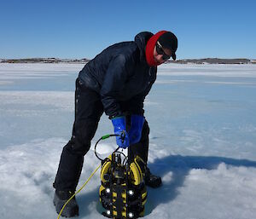
<path id="1" fill-rule="evenodd" d="M 57 218 L 52 182 L 73 124 L 80 64 L 0 64 L 0 218 Z M 159 68 L 145 101 L 148 188 L 145 219 L 248 219 L 256 215 L 256 66 Z M 92 141 L 113 132 L 103 115 Z M 100 144 L 102 157 L 114 140 Z M 93 147 L 79 186 L 99 164 Z M 99 172 L 77 199 L 79 218 L 97 212 Z"/>

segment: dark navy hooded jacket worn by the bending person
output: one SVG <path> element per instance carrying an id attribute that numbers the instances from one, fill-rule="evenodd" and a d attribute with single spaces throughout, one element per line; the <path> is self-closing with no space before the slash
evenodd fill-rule
<path id="1" fill-rule="evenodd" d="M 148 66 L 145 47 L 151 32 L 141 32 L 135 41 L 116 43 L 104 49 L 79 72 L 86 87 L 102 96 L 106 114 L 124 112 L 143 115 L 143 101 L 156 79 L 156 67 Z"/>

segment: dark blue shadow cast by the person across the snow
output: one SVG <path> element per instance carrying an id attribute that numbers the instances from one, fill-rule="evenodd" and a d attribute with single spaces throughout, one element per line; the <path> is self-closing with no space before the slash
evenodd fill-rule
<path id="1" fill-rule="evenodd" d="M 245 166 L 256 168 L 256 161 L 250 161 L 247 159 L 180 155 L 171 155 L 166 158 L 155 159 L 154 163 L 148 164 L 152 173 L 158 176 L 165 176 L 167 173 L 172 172 L 172 180 L 170 182 L 163 182 L 163 185 L 157 189 L 150 187 L 147 188 L 148 201 L 146 204 L 145 214 L 150 214 L 154 208 L 162 203 L 168 203 L 176 199 L 178 195 L 178 188 L 183 187 L 183 183 L 186 176 L 189 174 L 189 170 L 214 170 L 218 167 L 218 164 L 221 163 L 237 167 Z M 83 193 L 79 196 L 80 216 L 87 216 L 90 214 L 89 206 L 92 202 L 96 202 L 97 206 L 99 205 L 98 188 L 99 187 L 89 193 Z"/>

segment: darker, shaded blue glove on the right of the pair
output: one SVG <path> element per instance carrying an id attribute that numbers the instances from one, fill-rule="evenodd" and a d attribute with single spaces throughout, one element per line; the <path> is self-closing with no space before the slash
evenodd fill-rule
<path id="1" fill-rule="evenodd" d="M 145 118 L 140 115 L 131 115 L 131 129 L 129 130 L 130 144 L 136 144 L 142 138 Z"/>

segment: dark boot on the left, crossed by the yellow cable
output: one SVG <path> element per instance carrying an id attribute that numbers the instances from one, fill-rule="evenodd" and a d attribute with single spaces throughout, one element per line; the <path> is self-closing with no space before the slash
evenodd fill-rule
<path id="1" fill-rule="evenodd" d="M 63 205 L 67 202 L 68 199 L 73 196 L 73 192 L 69 191 L 55 191 L 54 205 L 58 214 L 60 214 Z M 64 210 L 61 213 L 61 216 L 72 217 L 79 216 L 79 205 L 75 197 L 69 201 Z"/>

